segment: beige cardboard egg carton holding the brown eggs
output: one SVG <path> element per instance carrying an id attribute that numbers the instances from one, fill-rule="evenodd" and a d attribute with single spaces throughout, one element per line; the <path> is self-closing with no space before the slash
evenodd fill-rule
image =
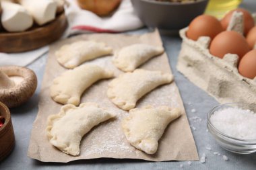
<path id="1" fill-rule="evenodd" d="M 178 71 L 220 103 L 256 103 L 256 77 L 248 79 L 238 73 L 238 56 L 213 56 L 209 50 L 210 37 L 202 36 L 193 41 L 187 38 L 187 30 L 180 30 L 183 42 L 177 63 Z M 235 13 L 232 16 L 228 30 L 243 31 L 243 14 Z"/>

